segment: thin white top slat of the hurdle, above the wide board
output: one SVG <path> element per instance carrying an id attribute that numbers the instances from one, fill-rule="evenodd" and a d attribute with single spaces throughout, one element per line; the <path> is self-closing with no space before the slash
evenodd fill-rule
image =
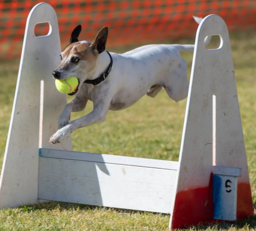
<path id="1" fill-rule="evenodd" d="M 48 158 L 61 158 L 70 160 L 91 161 L 100 163 L 111 163 L 121 165 L 132 165 L 148 168 L 160 168 L 177 170 L 177 161 L 147 159 L 130 156 L 109 155 L 109 154 L 95 154 L 95 153 L 80 153 L 63 150 L 39 149 L 39 156 Z"/>

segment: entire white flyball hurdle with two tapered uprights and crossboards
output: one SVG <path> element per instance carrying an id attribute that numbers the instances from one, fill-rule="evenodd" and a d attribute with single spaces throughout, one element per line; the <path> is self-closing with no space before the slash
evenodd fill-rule
<path id="1" fill-rule="evenodd" d="M 44 22 L 50 24 L 48 35 L 35 37 L 35 25 Z M 204 38 L 214 34 L 220 35 L 221 46 L 206 50 Z M 177 162 L 72 152 L 70 135 L 61 144 L 49 144 L 66 103 L 51 77 L 60 63 L 60 52 L 56 13 L 48 3 L 39 3 L 26 26 L 0 178 L 0 208 L 48 200 L 168 213 L 170 229 L 212 222 L 214 214 L 223 214 L 214 212 L 216 150 L 218 169 L 225 177 L 231 176 L 225 167 L 241 168 L 237 186 L 232 186 L 237 190 L 232 219 L 253 215 L 228 30 L 219 16 L 207 16 L 197 30 Z"/>

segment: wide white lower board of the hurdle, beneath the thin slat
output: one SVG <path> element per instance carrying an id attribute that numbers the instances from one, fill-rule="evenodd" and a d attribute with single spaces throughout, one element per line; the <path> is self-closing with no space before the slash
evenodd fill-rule
<path id="1" fill-rule="evenodd" d="M 170 213 L 177 171 L 39 157 L 38 198 Z"/>

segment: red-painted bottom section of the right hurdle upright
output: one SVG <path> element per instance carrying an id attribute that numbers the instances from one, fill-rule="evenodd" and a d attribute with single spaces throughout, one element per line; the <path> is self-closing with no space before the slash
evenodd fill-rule
<path id="1" fill-rule="evenodd" d="M 186 226 L 214 223 L 213 219 L 212 175 L 208 187 L 180 191 L 176 195 L 171 229 L 184 229 Z M 253 201 L 249 183 L 239 183 L 237 190 L 237 219 L 253 216 Z"/>

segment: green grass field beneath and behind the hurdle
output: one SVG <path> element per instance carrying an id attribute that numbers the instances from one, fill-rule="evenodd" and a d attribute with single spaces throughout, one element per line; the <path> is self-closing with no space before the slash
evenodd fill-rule
<path id="1" fill-rule="evenodd" d="M 194 43 L 194 40 L 165 41 Z M 256 203 L 256 33 L 230 35 L 231 49 L 241 109 L 253 201 Z M 213 45 L 215 41 L 213 41 Z M 137 46 L 136 46 L 137 47 Z M 124 52 L 135 46 L 113 48 Z M 182 53 L 188 61 L 192 52 Z M 0 166 L 9 128 L 19 60 L 0 61 Z M 50 74 L 49 74 L 49 77 Z M 70 101 L 72 98 L 68 98 Z M 92 110 L 88 103 L 81 117 Z M 186 100 L 174 103 L 165 91 L 152 99 L 143 97 L 123 111 L 109 111 L 104 123 L 80 128 L 72 133 L 73 149 L 80 152 L 104 153 L 178 160 Z M 51 202 L 0 210 L 0 231 L 160 231 L 167 230 L 169 216 L 105 207 Z M 191 227 L 191 230 L 256 229 L 256 216 L 244 221 L 220 225 Z"/>

